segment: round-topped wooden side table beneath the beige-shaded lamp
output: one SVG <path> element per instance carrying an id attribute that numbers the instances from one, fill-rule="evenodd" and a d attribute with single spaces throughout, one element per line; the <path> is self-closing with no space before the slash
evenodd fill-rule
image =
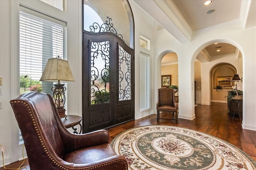
<path id="1" fill-rule="evenodd" d="M 82 125 L 81 125 L 81 120 L 82 117 L 78 116 L 78 115 L 67 115 L 66 117 L 62 118 L 61 121 L 63 123 L 63 125 L 68 129 L 70 127 L 72 127 L 72 129 L 74 130 L 74 133 L 78 134 L 78 132 L 76 131 L 77 128 L 74 128 L 74 126 L 79 125 L 80 126 L 80 132 L 79 134 L 81 134 L 82 132 Z"/>

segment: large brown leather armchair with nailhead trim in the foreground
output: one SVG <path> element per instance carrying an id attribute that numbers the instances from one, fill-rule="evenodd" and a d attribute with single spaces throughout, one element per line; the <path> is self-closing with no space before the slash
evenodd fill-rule
<path id="1" fill-rule="evenodd" d="M 106 130 L 82 135 L 62 124 L 48 94 L 28 92 L 10 101 L 31 170 L 127 170 L 124 156 L 109 144 Z"/>

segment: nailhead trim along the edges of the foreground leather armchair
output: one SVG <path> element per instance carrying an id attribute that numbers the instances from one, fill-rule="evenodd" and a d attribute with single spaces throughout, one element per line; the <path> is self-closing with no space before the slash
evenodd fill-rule
<path id="1" fill-rule="evenodd" d="M 48 150 L 46 149 L 46 147 L 45 147 L 45 145 L 44 145 L 44 141 L 42 140 L 42 137 L 41 137 L 41 135 L 40 135 L 40 133 L 39 133 L 39 131 L 38 131 L 38 128 L 37 128 L 37 126 L 36 126 L 36 121 L 35 121 L 35 119 L 34 119 L 34 117 L 33 117 L 33 114 L 32 114 L 32 111 L 31 111 L 31 109 L 30 109 L 30 106 L 28 106 L 28 104 L 27 104 L 26 102 L 22 102 L 22 101 L 20 101 L 20 100 L 14 101 L 14 102 L 10 102 L 10 103 L 13 104 L 13 103 L 16 103 L 16 102 L 18 102 L 18 103 L 21 102 L 22 104 L 24 104 L 25 106 L 27 106 L 27 108 L 28 108 L 28 113 L 30 113 L 30 117 L 31 117 L 31 119 L 32 119 L 33 126 L 34 126 L 34 128 L 36 129 L 36 133 L 38 134 L 39 141 L 40 141 L 40 143 L 41 143 L 41 145 L 42 145 L 42 147 L 43 147 L 43 149 L 44 149 L 44 152 L 45 152 L 46 155 L 48 156 L 48 158 L 50 158 L 50 160 L 52 160 L 52 162 L 53 162 L 54 164 L 56 164 L 58 167 L 60 167 L 60 168 L 62 168 L 62 169 L 64 169 L 64 170 L 69 170 L 68 168 L 65 168 L 65 167 L 63 167 L 62 165 L 60 165 L 58 162 L 56 162 L 56 161 L 52 158 L 52 156 L 50 156 Z M 94 167 L 91 167 L 91 168 L 86 168 L 86 169 L 84 169 L 84 170 L 92 170 L 92 169 L 99 168 L 99 167 L 101 167 L 101 166 L 109 165 L 109 164 L 112 164 L 112 163 L 115 163 L 115 162 L 119 162 L 119 161 L 122 161 L 122 162 L 124 162 L 124 163 L 126 164 L 126 161 L 124 161 L 124 160 L 114 160 L 113 162 L 108 162 L 108 163 L 105 163 L 105 164 L 102 164 L 102 165 L 94 166 Z M 128 169 L 127 164 L 126 164 L 125 167 L 126 167 L 126 169 Z"/>

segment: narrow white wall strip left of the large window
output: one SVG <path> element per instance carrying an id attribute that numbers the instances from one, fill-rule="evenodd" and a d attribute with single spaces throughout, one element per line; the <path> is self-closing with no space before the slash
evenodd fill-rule
<path id="1" fill-rule="evenodd" d="M 0 76 L 3 84 L 0 85 L 2 109 L 0 109 L 0 145 L 5 147 L 4 156 L 10 161 L 11 144 L 16 133 L 12 135 L 14 115 L 10 107 L 11 99 L 11 15 L 10 2 L 0 1 Z M 1 156 L 2 157 L 2 156 Z M 2 159 L 0 158 L 1 162 Z"/>

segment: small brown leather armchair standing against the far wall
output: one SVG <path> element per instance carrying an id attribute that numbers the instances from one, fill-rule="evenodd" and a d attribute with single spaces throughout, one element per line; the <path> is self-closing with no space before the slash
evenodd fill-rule
<path id="1" fill-rule="evenodd" d="M 158 102 L 156 103 L 157 117 L 156 121 L 159 121 L 160 111 L 171 112 L 174 123 L 178 123 L 178 105 L 174 98 L 174 89 L 172 88 L 160 88 L 158 89 Z"/>

